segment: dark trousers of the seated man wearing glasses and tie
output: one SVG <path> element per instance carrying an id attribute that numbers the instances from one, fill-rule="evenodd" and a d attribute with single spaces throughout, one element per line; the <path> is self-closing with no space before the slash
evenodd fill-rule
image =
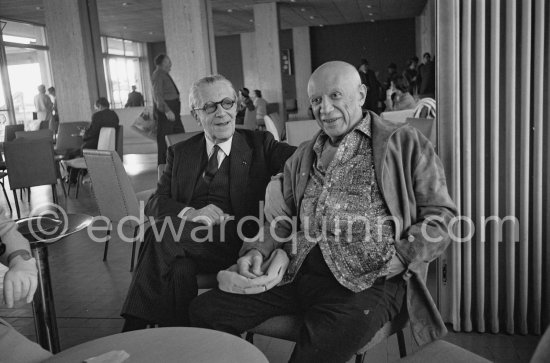
<path id="1" fill-rule="evenodd" d="M 163 223 L 172 223 L 160 234 Z M 183 228 L 182 228 L 183 224 Z M 196 227 L 202 227 L 197 232 Z M 179 217 L 166 217 L 145 232 L 143 248 L 122 316 L 124 330 L 145 328 L 147 323 L 161 326 L 189 325 L 189 304 L 197 296 L 197 274 L 216 273 L 237 260 L 240 242 L 231 235 L 228 223 L 227 242 L 220 241 L 220 230 L 214 228 L 212 241 L 195 242 L 207 235 L 203 225 L 184 222 Z M 180 232 L 178 232 L 180 231 Z M 180 233 L 180 236 L 177 236 Z M 161 238 L 159 239 L 159 237 Z"/>

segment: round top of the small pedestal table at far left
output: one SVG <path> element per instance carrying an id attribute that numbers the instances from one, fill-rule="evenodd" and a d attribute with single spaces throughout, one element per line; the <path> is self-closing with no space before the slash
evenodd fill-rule
<path id="1" fill-rule="evenodd" d="M 29 240 L 31 246 L 38 243 L 54 243 L 63 237 L 88 227 L 93 217 L 87 214 L 68 213 L 60 218 L 49 216 L 27 217 L 15 221 L 17 229 Z"/>

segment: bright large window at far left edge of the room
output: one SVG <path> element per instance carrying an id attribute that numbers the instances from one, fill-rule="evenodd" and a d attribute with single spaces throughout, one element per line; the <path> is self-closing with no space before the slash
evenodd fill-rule
<path id="1" fill-rule="evenodd" d="M 0 140 L 6 123 L 33 120 L 34 96 L 41 84 L 53 86 L 43 26 L 0 20 Z"/>

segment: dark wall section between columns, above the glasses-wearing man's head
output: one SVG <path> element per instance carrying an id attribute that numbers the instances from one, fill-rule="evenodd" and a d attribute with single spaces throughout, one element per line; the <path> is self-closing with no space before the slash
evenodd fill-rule
<path id="1" fill-rule="evenodd" d="M 218 73 L 233 83 L 235 89 L 244 87 L 241 36 L 227 35 L 215 38 Z"/>

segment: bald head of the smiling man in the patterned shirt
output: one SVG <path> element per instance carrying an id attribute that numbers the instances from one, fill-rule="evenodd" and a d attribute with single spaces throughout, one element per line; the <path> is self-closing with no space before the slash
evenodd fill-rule
<path id="1" fill-rule="evenodd" d="M 363 117 L 361 106 L 367 90 L 349 63 L 333 61 L 321 65 L 309 78 L 307 93 L 315 119 L 334 142 Z"/>

